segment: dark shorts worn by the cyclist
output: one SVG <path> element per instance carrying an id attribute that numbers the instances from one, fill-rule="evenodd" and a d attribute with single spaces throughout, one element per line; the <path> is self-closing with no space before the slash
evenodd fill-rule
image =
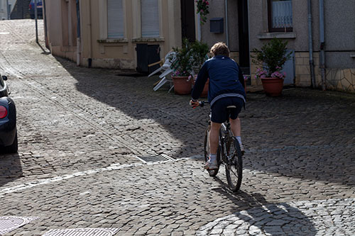
<path id="1" fill-rule="evenodd" d="M 236 106 L 236 108 L 230 109 L 231 113 L 228 113 L 226 109 L 227 106 Z M 241 112 L 241 108 L 243 106 L 243 99 L 238 97 L 229 96 L 226 98 L 218 99 L 213 103 L 211 108 L 211 120 L 213 123 L 224 123 L 229 118 L 235 120 L 238 117 L 238 114 Z"/>

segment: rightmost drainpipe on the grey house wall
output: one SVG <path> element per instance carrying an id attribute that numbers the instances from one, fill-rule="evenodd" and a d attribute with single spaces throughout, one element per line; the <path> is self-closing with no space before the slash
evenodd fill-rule
<path id="1" fill-rule="evenodd" d="M 322 90 L 325 91 L 325 52 L 324 52 L 324 0 L 320 0 L 320 71 L 322 76 Z"/>

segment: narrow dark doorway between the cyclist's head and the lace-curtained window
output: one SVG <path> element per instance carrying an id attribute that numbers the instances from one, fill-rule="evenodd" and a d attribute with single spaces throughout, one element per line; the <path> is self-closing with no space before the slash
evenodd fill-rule
<path id="1" fill-rule="evenodd" d="M 243 74 L 250 74 L 248 0 L 238 0 L 239 66 Z"/>

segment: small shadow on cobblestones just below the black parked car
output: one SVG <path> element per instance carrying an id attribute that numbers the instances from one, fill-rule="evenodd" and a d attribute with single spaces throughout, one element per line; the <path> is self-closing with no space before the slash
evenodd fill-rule
<path id="1" fill-rule="evenodd" d="M 23 177 L 20 156 L 0 153 L 0 186 Z"/>

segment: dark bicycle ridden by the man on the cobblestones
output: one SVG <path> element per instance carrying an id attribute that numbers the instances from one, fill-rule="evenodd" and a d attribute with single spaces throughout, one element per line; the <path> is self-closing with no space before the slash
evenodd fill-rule
<path id="1" fill-rule="evenodd" d="M 207 101 L 200 101 L 200 106 L 203 107 Z M 231 109 L 236 106 L 228 106 L 228 114 Z M 209 118 L 210 115 L 209 115 Z M 211 129 L 211 120 L 209 119 L 206 134 L 204 135 L 204 161 L 209 159 L 209 130 Z M 222 156 L 222 158 L 221 158 Z M 219 147 L 217 150 L 218 169 L 209 169 L 209 176 L 216 176 L 221 164 L 224 164 L 226 169 L 226 180 L 232 191 L 238 191 L 241 187 L 241 179 L 243 176 L 243 160 L 241 158 L 241 147 L 238 140 L 231 133 L 231 124 L 229 118 L 225 123 L 222 123 L 219 130 Z"/>

